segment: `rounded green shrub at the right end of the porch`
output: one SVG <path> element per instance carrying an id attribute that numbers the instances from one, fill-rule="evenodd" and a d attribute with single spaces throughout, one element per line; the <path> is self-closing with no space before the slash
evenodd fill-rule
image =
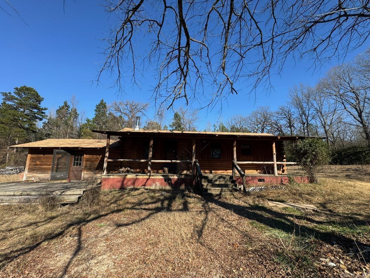
<path id="1" fill-rule="evenodd" d="M 318 169 L 329 162 L 329 148 L 320 139 L 306 138 L 286 145 L 289 156 L 302 167 L 310 178 L 310 182 L 317 182 Z"/>

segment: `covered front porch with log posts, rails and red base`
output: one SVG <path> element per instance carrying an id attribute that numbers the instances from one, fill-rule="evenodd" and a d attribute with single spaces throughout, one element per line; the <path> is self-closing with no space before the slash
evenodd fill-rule
<path id="1" fill-rule="evenodd" d="M 168 130 L 93 130 L 107 134 L 102 189 L 188 186 L 203 175 L 228 175 L 243 189 L 259 182 L 285 183 L 283 140 L 298 136 L 268 133 L 181 132 Z M 110 155 L 111 136 L 121 151 Z M 113 157 L 112 157 L 113 156 Z M 129 167 L 133 173 L 118 173 Z"/>

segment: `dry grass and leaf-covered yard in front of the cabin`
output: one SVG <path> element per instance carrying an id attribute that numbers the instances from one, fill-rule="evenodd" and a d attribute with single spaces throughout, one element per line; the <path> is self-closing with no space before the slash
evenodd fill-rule
<path id="1" fill-rule="evenodd" d="M 0 277 L 361 277 L 370 272 L 369 173 L 333 166 L 318 185 L 251 195 L 139 189 L 49 212 L 1 206 Z"/>

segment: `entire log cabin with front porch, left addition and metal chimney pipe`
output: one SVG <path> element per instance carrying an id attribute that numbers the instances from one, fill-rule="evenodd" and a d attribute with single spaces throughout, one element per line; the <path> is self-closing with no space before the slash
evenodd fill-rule
<path id="1" fill-rule="evenodd" d="M 138 120 L 139 124 L 139 120 Z M 139 126 L 92 130 L 107 140 L 46 139 L 28 148 L 24 180 L 101 179 L 102 189 L 189 186 L 229 179 L 238 188 L 288 181 L 285 140 L 269 133 L 147 130 Z M 112 138 L 112 139 L 111 139 Z M 120 169 L 130 169 L 122 173 Z M 125 171 L 125 170 L 123 170 Z M 306 177 L 296 176 L 300 182 Z"/>

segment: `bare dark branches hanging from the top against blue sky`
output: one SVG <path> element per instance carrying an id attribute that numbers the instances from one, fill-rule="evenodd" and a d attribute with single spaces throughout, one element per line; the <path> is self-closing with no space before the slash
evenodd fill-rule
<path id="1" fill-rule="evenodd" d="M 211 105 L 238 93 L 238 79 L 251 89 L 266 81 L 270 87 L 271 70 L 280 72 L 288 57 L 308 56 L 320 66 L 345 57 L 369 36 L 368 0 L 105 3 L 117 25 L 107 38 L 101 72 L 114 71 L 121 87 L 128 73 L 137 82 L 139 65 L 154 66 L 153 97 L 167 107 L 201 96 Z"/>

